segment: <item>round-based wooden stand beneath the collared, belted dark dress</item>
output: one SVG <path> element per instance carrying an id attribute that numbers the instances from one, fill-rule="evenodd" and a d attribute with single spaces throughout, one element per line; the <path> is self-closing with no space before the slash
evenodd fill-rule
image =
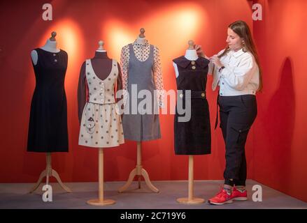
<path id="1" fill-rule="evenodd" d="M 194 166 L 193 155 L 189 155 L 189 192 L 188 192 L 188 197 L 178 198 L 177 201 L 179 203 L 198 204 L 198 203 L 204 203 L 205 202 L 204 199 L 194 197 L 194 194 L 193 194 L 194 167 L 193 166 Z"/>

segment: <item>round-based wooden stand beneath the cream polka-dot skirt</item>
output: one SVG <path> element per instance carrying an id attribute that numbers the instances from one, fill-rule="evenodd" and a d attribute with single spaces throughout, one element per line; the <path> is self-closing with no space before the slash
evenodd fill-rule
<path id="1" fill-rule="evenodd" d="M 94 206 L 106 206 L 110 204 L 114 204 L 115 201 L 113 200 L 105 200 L 103 198 L 103 148 L 99 148 L 99 186 L 98 186 L 98 199 L 92 199 L 90 201 L 87 201 L 88 204 L 94 205 Z"/>

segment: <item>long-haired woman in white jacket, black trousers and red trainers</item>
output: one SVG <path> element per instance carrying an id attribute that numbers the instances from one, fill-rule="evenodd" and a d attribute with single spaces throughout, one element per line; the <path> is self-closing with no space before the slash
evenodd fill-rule
<path id="1" fill-rule="evenodd" d="M 226 146 L 224 186 L 208 201 L 216 205 L 247 200 L 245 142 L 257 116 L 255 94 L 262 89 L 259 57 L 248 25 L 243 21 L 230 24 L 226 42 L 227 47 L 210 58 L 213 91 L 220 86 L 217 102 Z M 195 49 L 206 57 L 201 46 Z"/>

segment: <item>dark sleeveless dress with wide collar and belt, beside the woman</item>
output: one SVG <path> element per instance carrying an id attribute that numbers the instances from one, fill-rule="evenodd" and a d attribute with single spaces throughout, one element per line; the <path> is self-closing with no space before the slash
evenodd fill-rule
<path id="1" fill-rule="evenodd" d="M 211 153 L 210 114 L 206 99 L 206 83 L 209 61 L 199 57 L 189 61 L 185 56 L 173 59 L 178 67 L 176 78 L 178 97 L 174 118 L 176 155 L 204 155 Z M 190 95 L 187 93 L 190 90 Z M 183 109 L 190 103 L 190 120 L 179 121 L 185 114 L 178 112 L 179 102 Z M 180 105 L 181 106 L 181 105 Z"/>

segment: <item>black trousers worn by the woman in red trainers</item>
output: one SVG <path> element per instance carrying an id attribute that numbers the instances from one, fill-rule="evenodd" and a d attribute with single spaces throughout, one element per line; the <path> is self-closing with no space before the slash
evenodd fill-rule
<path id="1" fill-rule="evenodd" d="M 245 143 L 257 116 L 256 96 L 219 96 L 217 102 L 220 106 L 220 128 L 226 147 L 225 184 L 245 185 Z"/>

